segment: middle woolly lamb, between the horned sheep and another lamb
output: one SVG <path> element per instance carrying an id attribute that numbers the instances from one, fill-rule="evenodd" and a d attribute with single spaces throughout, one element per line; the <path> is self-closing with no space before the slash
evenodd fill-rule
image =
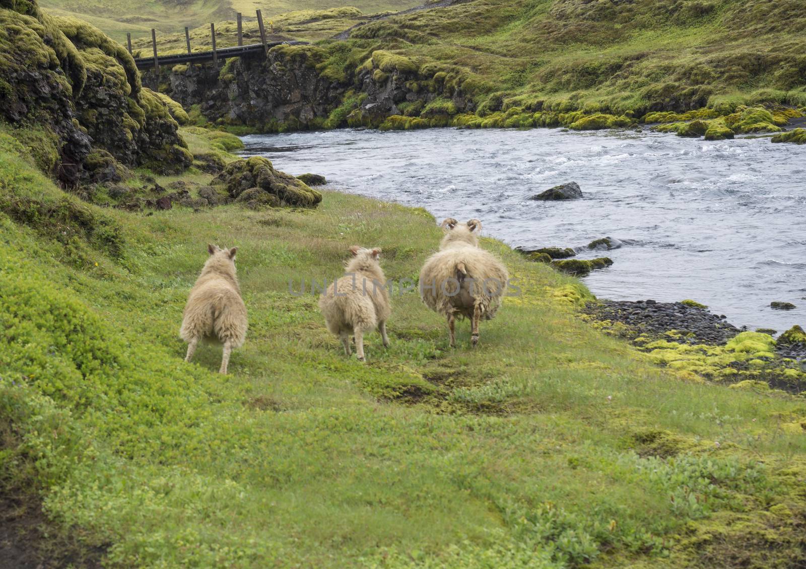
<path id="1" fill-rule="evenodd" d="M 386 321 L 392 314 L 386 277 L 380 268 L 380 249 L 350 247 L 351 260 L 345 274 L 336 279 L 319 297 L 319 309 L 325 317 L 327 329 L 339 336 L 344 353 L 352 355 L 350 333 L 355 334 L 355 352 L 364 361 L 364 333 L 380 331 L 384 347 L 388 347 Z"/>

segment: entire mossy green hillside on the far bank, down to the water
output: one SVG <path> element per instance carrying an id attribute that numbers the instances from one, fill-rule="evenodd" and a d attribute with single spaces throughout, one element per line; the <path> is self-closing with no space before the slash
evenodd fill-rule
<path id="1" fill-rule="evenodd" d="M 306 25 L 314 24 L 301 23 L 289 37 L 305 38 Z M 338 93 L 336 100 L 305 101 L 318 107 L 313 117 L 286 121 L 275 112 L 285 105 L 282 100 L 244 117 L 239 102 L 223 94 L 202 112 L 219 124 L 256 131 L 667 123 L 667 130 L 681 135 L 711 130 L 710 138 L 731 138 L 779 131 L 804 114 L 804 32 L 806 7 L 796 0 L 455 2 L 358 22 L 339 39 L 296 51 L 278 48 L 268 64 L 232 62 L 218 74 L 226 93 L 231 85 L 242 89 L 241 83 L 254 83 L 256 76 L 286 81 L 272 77 L 272 64 L 304 60 L 329 95 Z M 224 29 L 220 44 L 234 43 L 233 33 L 233 27 Z M 197 37 L 209 44 L 204 30 Z M 308 37 L 316 39 L 313 33 Z M 181 37 L 166 49 L 180 50 Z M 174 73 L 165 69 L 160 84 L 170 89 L 185 73 L 187 66 Z M 211 69 L 202 73 L 216 77 Z M 185 106 L 195 101 L 181 99 Z M 740 107 L 756 105 L 764 106 L 761 114 L 742 114 L 746 108 Z M 704 108 L 708 111 L 685 114 Z M 700 123 L 682 124 L 692 119 Z"/>

